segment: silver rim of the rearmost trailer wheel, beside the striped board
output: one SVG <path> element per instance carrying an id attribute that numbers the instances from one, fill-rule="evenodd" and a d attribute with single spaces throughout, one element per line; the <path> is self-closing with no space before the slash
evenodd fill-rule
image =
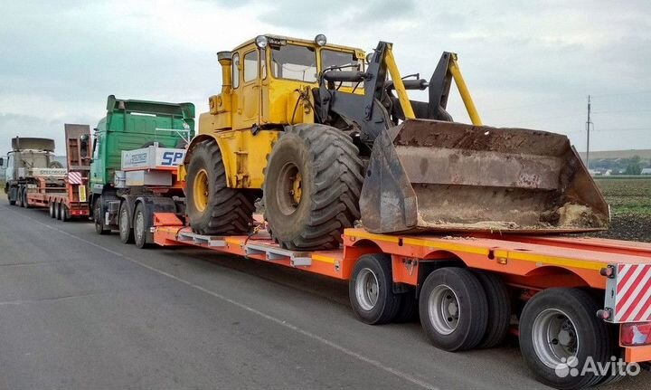
<path id="1" fill-rule="evenodd" d="M 570 317 L 559 309 L 542 310 L 533 320 L 533 349 L 545 366 L 555 369 L 576 357 L 579 335 Z"/>

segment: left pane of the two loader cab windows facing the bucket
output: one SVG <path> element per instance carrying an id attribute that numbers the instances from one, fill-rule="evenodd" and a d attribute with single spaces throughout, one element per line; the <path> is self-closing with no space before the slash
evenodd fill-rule
<path id="1" fill-rule="evenodd" d="M 270 49 L 273 77 L 316 82 L 316 52 L 314 48 L 288 44 Z"/>

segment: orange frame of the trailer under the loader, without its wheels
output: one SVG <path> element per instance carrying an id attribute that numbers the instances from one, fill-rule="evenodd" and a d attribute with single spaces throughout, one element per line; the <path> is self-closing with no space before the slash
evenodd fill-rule
<path id="1" fill-rule="evenodd" d="M 259 219 L 259 216 L 257 217 Z M 260 224 L 262 226 L 262 224 Z M 518 236 L 500 234 L 387 235 L 346 229 L 338 251 L 294 252 L 274 243 L 265 230 L 250 236 L 203 236 L 193 233 L 175 214 L 155 214 L 154 241 L 160 246 L 191 245 L 212 251 L 273 262 L 347 281 L 363 254 L 384 253 L 392 258 L 395 283 L 419 287 L 422 269 L 436 262 L 463 262 L 474 270 L 495 272 L 511 287 L 524 291 L 523 299 L 552 287 L 617 289 L 610 286 L 609 270 L 621 266 L 645 267 L 651 272 L 651 244 L 588 237 Z M 636 285 L 629 287 L 636 289 Z M 621 286 L 619 286 L 621 289 Z M 640 290 L 640 289 L 636 289 Z M 633 300 L 640 305 L 646 290 Z M 609 308 L 604 306 L 608 312 Z M 597 313 L 595 313 L 597 314 Z M 603 315 L 605 320 L 610 320 Z M 643 319 L 651 321 L 651 318 Z M 629 363 L 651 361 L 651 344 L 624 346 Z"/>

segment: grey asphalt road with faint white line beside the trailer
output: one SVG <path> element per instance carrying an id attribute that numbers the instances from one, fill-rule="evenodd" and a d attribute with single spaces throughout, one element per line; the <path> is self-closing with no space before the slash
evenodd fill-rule
<path id="1" fill-rule="evenodd" d="M 0 389 L 213 388 L 545 387 L 514 345 L 452 354 L 419 324 L 362 324 L 343 283 L 138 250 L 0 199 Z"/>

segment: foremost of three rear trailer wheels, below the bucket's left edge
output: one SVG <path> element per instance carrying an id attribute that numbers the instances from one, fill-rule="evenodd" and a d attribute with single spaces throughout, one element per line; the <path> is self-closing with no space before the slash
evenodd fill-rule
<path id="1" fill-rule="evenodd" d="M 395 319 L 401 297 L 393 293 L 391 257 L 377 253 L 360 257 L 348 281 L 348 295 L 362 322 L 380 325 Z"/>

